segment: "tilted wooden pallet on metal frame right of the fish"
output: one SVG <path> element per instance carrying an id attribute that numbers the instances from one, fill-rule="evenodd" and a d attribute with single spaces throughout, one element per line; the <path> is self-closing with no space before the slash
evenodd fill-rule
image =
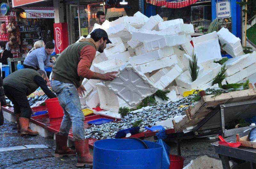
<path id="1" fill-rule="evenodd" d="M 250 99 L 256 99 L 255 89 L 223 93 L 216 97 L 213 97 L 213 95 L 202 96 L 194 108 L 190 106 L 185 110 L 186 116 L 180 122 L 175 123 L 174 130 L 179 132 L 187 127 L 195 126 L 220 104 Z"/>

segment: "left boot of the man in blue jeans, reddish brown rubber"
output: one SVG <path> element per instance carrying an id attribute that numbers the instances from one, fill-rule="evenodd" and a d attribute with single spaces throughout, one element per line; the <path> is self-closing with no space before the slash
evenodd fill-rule
<path id="1" fill-rule="evenodd" d="M 55 149 L 54 157 L 76 155 L 76 150 L 72 150 L 67 146 L 68 134 L 60 135 L 59 133 L 56 133 L 55 139 L 56 139 L 56 149 Z"/>

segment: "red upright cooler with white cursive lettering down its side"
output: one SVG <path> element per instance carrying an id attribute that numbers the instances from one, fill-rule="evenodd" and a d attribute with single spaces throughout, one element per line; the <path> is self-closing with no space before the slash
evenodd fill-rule
<path id="1" fill-rule="evenodd" d="M 55 39 L 55 52 L 61 53 L 68 47 L 68 25 L 67 23 L 53 24 L 54 26 L 54 39 Z"/>

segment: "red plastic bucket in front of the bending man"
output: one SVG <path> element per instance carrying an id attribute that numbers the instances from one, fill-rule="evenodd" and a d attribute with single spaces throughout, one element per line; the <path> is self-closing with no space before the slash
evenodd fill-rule
<path id="1" fill-rule="evenodd" d="M 63 109 L 60 106 L 58 98 L 45 100 L 49 118 L 60 118 L 64 116 Z"/>

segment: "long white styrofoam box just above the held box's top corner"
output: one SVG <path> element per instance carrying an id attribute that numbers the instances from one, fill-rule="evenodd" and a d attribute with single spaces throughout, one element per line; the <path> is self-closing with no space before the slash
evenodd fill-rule
<path id="1" fill-rule="evenodd" d="M 140 65 L 143 63 L 148 63 L 154 60 L 159 60 L 162 58 L 165 58 L 167 56 L 171 56 L 174 54 L 173 48 L 172 47 L 165 47 L 162 49 L 158 49 L 156 51 L 144 53 L 141 55 L 133 56 L 129 58 L 129 62 L 134 66 L 134 65 Z"/>

